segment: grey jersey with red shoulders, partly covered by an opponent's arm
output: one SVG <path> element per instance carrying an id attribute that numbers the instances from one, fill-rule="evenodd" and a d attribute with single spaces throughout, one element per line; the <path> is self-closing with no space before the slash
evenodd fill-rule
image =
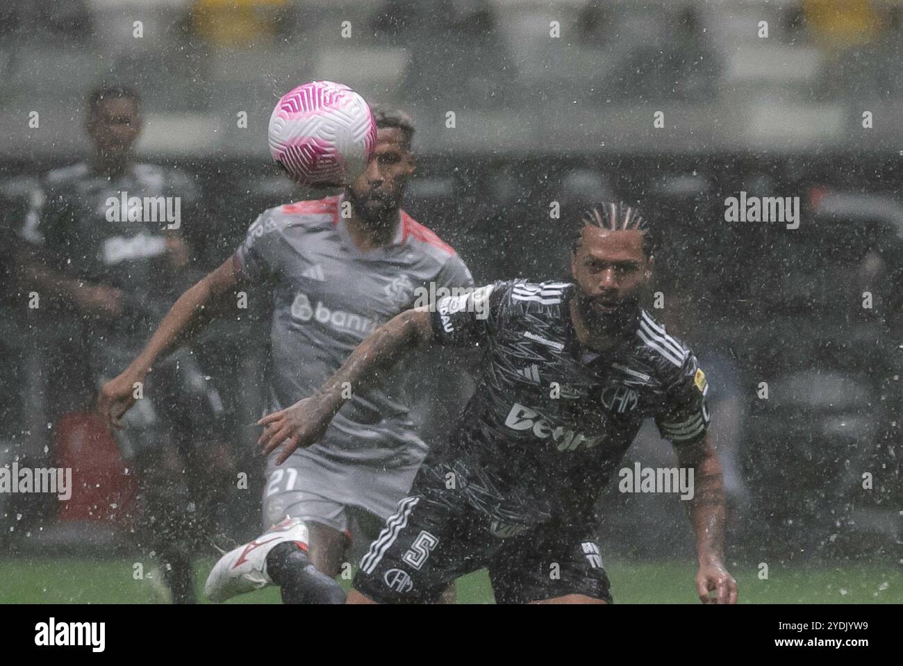
<path id="1" fill-rule="evenodd" d="M 470 287 L 467 266 L 439 236 L 400 213 L 391 245 L 366 253 L 340 215 L 342 198 L 266 210 L 238 246 L 237 267 L 273 292 L 266 410 L 311 395 L 378 326 L 440 287 Z M 423 368 L 420 369 L 423 371 Z M 346 402 L 312 455 L 399 467 L 426 453 L 399 364 Z"/>

